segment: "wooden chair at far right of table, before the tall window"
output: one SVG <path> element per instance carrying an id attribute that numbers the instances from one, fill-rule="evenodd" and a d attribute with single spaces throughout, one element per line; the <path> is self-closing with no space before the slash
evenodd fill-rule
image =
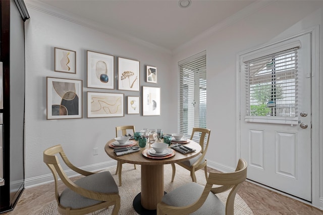
<path id="1" fill-rule="evenodd" d="M 196 182 L 195 171 L 204 168 L 205 178 L 207 179 L 207 167 L 206 167 L 206 159 L 205 154 L 208 147 L 208 142 L 210 138 L 211 131 L 206 128 L 193 128 L 191 140 L 195 137 L 199 137 L 199 144 L 202 148 L 201 153 L 192 159 L 185 160 L 184 162 L 176 163 L 181 167 L 189 170 L 191 172 L 191 178 L 193 182 Z M 206 145 L 204 147 L 204 140 L 206 138 Z M 173 174 L 172 174 L 172 182 L 174 182 L 176 166 L 172 164 Z"/>

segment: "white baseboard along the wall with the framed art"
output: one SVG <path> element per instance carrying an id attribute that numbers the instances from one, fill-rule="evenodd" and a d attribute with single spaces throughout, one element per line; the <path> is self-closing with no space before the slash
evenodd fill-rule
<path id="1" fill-rule="evenodd" d="M 117 165 L 117 161 L 111 160 L 109 162 L 103 162 L 103 163 L 99 163 L 99 164 L 80 167 L 80 169 L 85 170 L 85 171 L 89 171 L 89 172 L 97 172 L 97 171 L 105 170 L 106 168 L 113 167 L 116 165 Z M 74 176 L 80 175 L 72 170 L 68 170 L 65 173 L 68 177 L 74 177 Z M 52 174 L 46 174 L 46 175 L 42 175 L 42 176 L 27 178 L 27 179 L 25 179 L 25 188 L 35 187 L 35 186 L 42 185 L 42 184 L 48 184 L 53 181 L 54 181 L 54 178 L 53 178 Z"/>

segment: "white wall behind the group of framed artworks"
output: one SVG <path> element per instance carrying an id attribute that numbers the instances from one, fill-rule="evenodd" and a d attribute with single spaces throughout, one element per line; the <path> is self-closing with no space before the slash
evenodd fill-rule
<path id="1" fill-rule="evenodd" d="M 26 40 L 26 186 L 46 182 L 51 173 L 43 163 L 44 149 L 62 144 L 67 156 L 78 167 L 89 170 L 116 165 L 104 152 L 104 145 L 115 137 L 115 127 L 135 125 L 136 130 L 161 128 L 165 133 L 177 132 L 177 76 L 170 72 L 171 54 L 146 45 L 111 37 L 97 30 L 28 8 L 30 20 L 25 25 Z M 54 47 L 76 51 L 76 74 L 54 71 Z M 127 114 L 127 96 L 140 96 L 140 92 L 87 88 L 86 50 L 140 61 L 140 86 L 161 88 L 161 115 L 142 116 Z M 157 67 L 157 84 L 145 81 L 145 65 Z M 46 77 L 83 80 L 83 118 L 46 120 Z M 140 87 L 140 89 L 142 89 Z M 125 116 L 87 118 L 87 91 L 117 92 L 125 96 Z M 98 155 L 92 149 L 98 148 Z"/>

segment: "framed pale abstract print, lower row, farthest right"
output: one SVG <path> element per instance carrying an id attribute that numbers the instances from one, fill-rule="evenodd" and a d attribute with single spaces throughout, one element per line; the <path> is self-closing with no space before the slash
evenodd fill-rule
<path id="1" fill-rule="evenodd" d="M 160 87 L 142 87 L 142 116 L 160 115 Z"/>

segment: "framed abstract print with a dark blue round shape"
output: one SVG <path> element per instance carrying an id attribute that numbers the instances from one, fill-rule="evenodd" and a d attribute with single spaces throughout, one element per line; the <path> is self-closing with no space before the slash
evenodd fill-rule
<path id="1" fill-rule="evenodd" d="M 115 57 L 87 50 L 87 87 L 115 88 Z"/>

